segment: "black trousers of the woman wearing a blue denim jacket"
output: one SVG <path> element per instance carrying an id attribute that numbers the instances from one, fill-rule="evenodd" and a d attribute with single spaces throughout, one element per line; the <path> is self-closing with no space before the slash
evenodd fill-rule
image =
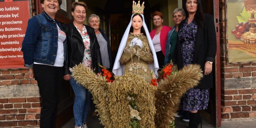
<path id="1" fill-rule="evenodd" d="M 63 67 L 34 64 L 33 70 L 42 98 L 40 128 L 55 128 Z"/>

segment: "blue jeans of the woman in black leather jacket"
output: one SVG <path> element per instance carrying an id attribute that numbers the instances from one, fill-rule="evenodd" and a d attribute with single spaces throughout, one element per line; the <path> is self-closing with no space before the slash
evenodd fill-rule
<path id="1" fill-rule="evenodd" d="M 73 107 L 75 126 L 80 127 L 86 122 L 90 105 L 90 92 L 81 84 L 76 83 L 76 80 L 74 80 L 72 76 L 69 82 L 75 93 L 75 102 Z"/>

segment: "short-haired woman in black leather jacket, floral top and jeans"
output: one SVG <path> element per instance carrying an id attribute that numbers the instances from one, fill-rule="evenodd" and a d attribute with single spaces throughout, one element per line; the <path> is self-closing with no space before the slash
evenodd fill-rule
<path id="1" fill-rule="evenodd" d="M 74 117 L 75 127 L 87 128 L 86 116 L 89 109 L 90 93 L 88 89 L 77 83 L 71 76 L 72 68 L 82 63 L 99 74 L 101 68 L 100 46 L 98 44 L 94 29 L 84 25 L 87 6 L 84 2 L 74 2 L 72 4 L 72 15 L 74 22 L 62 25 L 67 35 L 68 65 L 64 66 L 64 80 L 70 81 L 75 93 Z"/>

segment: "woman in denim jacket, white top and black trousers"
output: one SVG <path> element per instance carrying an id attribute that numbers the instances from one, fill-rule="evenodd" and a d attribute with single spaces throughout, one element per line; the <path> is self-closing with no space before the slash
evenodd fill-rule
<path id="1" fill-rule="evenodd" d="M 61 0 L 40 0 L 44 11 L 29 19 L 22 42 L 25 66 L 37 80 L 42 98 L 40 128 L 55 128 L 66 63 L 66 34 L 55 19 Z"/>

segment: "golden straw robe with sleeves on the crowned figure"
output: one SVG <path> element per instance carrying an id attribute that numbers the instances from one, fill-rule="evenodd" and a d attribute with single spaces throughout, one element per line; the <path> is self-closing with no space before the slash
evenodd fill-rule
<path id="1" fill-rule="evenodd" d="M 142 48 L 138 45 L 134 45 L 133 47 L 129 46 L 131 40 L 134 38 L 138 38 L 143 42 Z M 137 74 L 143 77 L 146 82 L 151 83 L 152 76 L 148 65 L 153 61 L 153 55 L 148 45 L 147 37 L 143 34 L 130 33 L 123 55 L 120 58 L 120 64 L 125 65 L 124 74 Z"/>

